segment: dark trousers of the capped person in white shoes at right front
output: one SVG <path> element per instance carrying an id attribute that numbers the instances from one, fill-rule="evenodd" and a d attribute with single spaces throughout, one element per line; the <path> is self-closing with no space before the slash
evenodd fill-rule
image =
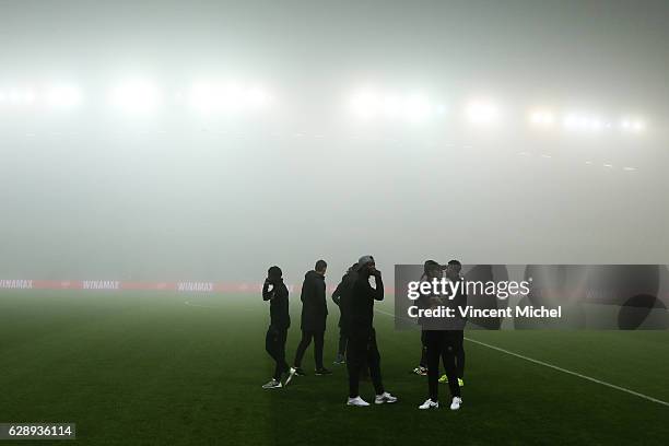
<path id="1" fill-rule="evenodd" d="M 455 365 L 456 341 L 453 332 L 442 330 L 425 331 L 427 347 L 427 386 L 430 399 L 438 401 L 439 394 L 439 359 L 444 361 L 448 388 L 451 397 L 460 396 L 460 386 Z"/>

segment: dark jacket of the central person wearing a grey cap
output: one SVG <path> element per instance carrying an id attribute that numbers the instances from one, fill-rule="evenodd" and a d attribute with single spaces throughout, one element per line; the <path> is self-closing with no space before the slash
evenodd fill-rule
<path id="1" fill-rule="evenodd" d="M 376 279 L 376 290 L 369 284 L 367 274 L 355 274 L 350 302 L 347 303 L 344 315 L 349 334 L 366 334 L 373 330 L 374 301 L 384 300 L 384 282 Z"/>

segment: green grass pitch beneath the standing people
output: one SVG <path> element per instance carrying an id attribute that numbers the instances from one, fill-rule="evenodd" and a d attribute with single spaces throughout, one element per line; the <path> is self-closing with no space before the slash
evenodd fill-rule
<path id="1" fill-rule="evenodd" d="M 291 298 L 289 362 L 300 332 Z M 326 364 L 338 338 L 329 307 Z M 427 391 L 410 374 L 419 333 L 396 331 L 382 314 L 384 382 L 397 404 L 345 407 L 345 368 L 333 365 L 331 376 L 263 390 L 268 318 L 255 294 L 3 291 L 0 422 L 75 422 L 78 445 L 669 444 L 669 407 L 472 342 L 462 409 L 419 411 Z M 669 401 L 667 331 L 467 336 Z M 313 371 L 310 350 L 303 365 Z M 369 383 L 361 391 L 374 394 Z"/>

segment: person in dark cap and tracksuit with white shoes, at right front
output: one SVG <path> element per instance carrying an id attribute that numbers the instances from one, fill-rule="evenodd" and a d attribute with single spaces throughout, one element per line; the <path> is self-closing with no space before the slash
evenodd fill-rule
<path id="1" fill-rule="evenodd" d="M 433 261 L 425 262 L 425 273 L 421 280 L 441 280 L 442 267 Z M 434 295 L 432 292 L 422 294 L 418 300 L 419 308 L 437 309 L 439 307 L 453 307 L 448 296 Z M 455 338 L 448 330 L 451 326 L 450 318 L 422 317 L 419 322 L 423 327 L 425 349 L 427 356 L 427 388 L 429 399 L 419 409 L 438 409 L 438 380 L 439 380 L 439 360 L 444 363 L 448 387 L 453 397 L 450 409 L 458 410 L 462 403 L 460 386 L 458 385 L 455 365 Z"/>

